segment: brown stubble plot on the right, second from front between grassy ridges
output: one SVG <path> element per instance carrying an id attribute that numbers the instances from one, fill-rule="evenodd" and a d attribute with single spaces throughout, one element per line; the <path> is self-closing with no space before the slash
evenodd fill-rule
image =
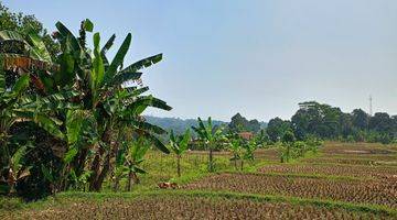
<path id="1" fill-rule="evenodd" d="M 395 180 L 341 180 L 299 176 L 221 174 L 185 186 L 186 189 L 282 195 L 397 208 Z"/>

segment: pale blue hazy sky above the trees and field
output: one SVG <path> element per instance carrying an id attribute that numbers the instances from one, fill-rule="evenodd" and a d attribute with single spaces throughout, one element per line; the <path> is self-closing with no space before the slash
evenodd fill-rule
<path id="1" fill-rule="evenodd" d="M 298 102 L 397 113 L 396 0 L 7 0 L 53 31 L 89 18 L 127 63 L 163 53 L 143 81 L 171 112 L 229 120 L 289 119 Z"/>

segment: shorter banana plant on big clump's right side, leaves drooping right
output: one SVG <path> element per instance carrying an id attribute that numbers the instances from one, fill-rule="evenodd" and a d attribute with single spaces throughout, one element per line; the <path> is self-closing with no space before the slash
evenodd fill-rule
<path id="1" fill-rule="evenodd" d="M 164 110 L 170 110 L 171 108 L 164 101 L 152 96 L 141 96 L 141 94 L 147 90 L 148 87 L 121 89 L 118 90 L 114 97 L 105 101 L 104 109 L 106 113 L 103 116 L 104 119 L 107 119 L 112 123 L 112 125 L 108 128 L 110 128 L 112 134 L 115 134 L 111 140 L 116 139 L 117 141 L 109 143 L 110 151 L 107 152 L 103 169 L 98 174 L 98 184 L 104 180 L 108 170 L 114 169 L 115 164 L 112 164 L 111 161 L 114 161 L 118 152 L 119 143 L 122 140 L 120 136 L 128 135 L 122 134 L 127 129 L 130 131 L 129 135 L 135 134 L 135 136 L 142 136 L 150 141 L 157 148 L 164 153 L 170 153 L 164 144 L 155 136 L 157 134 L 164 134 L 165 131 L 160 127 L 146 122 L 144 118 L 140 117 L 140 114 L 148 107 L 155 107 Z M 105 142 L 104 139 L 103 142 Z"/>

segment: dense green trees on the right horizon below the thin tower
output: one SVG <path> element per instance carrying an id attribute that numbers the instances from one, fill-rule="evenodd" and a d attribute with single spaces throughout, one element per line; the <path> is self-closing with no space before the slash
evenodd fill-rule
<path id="1" fill-rule="evenodd" d="M 340 108 L 318 102 L 300 103 L 300 109 L 290 121 L 279 118 L 269 121 L 267 133 L 271 141 L 277 141 L 288 131 L 298 140 L 316 136 L 325 140 L 382 142 L 390 143 L 397 133 L 397 118 L 385 112 L 374 116 L 362 109 L 352 113 Z"/>

